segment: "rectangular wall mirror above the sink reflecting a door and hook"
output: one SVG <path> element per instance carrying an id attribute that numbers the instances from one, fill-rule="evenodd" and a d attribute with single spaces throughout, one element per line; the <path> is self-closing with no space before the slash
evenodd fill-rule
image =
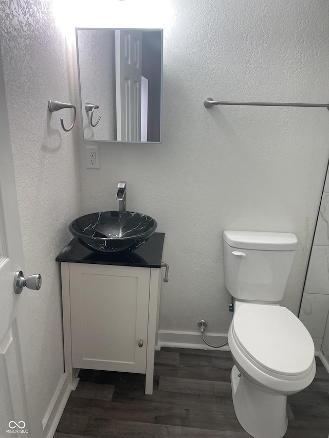
<path id="1" fill-rule="evenodd" d="M 162 29 L 76 28 L 83 139 L 161 143 Z"/>

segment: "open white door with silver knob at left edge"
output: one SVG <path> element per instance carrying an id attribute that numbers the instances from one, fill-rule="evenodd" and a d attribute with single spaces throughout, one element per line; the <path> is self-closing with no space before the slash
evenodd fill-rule
<path id="1" fill-rule="evenodd" d="M 39 438 L 31 425 L 25 390 L 32 351 L 27 297 L 13 290 L 14 274 L 20 270 L 24 270 L 23 246 L 0 52 L 0 436 L 25 432 Z"/>

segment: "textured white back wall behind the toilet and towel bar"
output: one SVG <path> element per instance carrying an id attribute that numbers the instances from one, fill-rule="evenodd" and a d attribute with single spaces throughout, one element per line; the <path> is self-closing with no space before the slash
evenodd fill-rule
<path id="1" fill-rule="evenodd" d="M 156 4 L 165 36 L 163 142 L 101 144 L 100 170 L 85 169 L 81 148 L 83 211 L 116 210 L 116 184 L 126 180 L 128 208 L 153 216 L 166 233 L 170 281 L 162 285 L 162 330 L 195 331 L 202 317 L 212 332 L 227 332 L 227 229 L 296 233 L 299 249 L 284 304 L 297 313 L 329 156 L 328 111 L 206 109 L 203 100 L 326 103 L 329 4 Z M 122 26 L 125 17 L 127 26 L 161 26 L 155 10 L 145 12 L 150 2 L 138 6 L 140 15 L 132 15 L 132 2 L 107 3 L 108 27 Z M 97 25 L 97 14 L 88 9 L 87 20 L 86 11 L 79 6 L 75 25 Z"/>

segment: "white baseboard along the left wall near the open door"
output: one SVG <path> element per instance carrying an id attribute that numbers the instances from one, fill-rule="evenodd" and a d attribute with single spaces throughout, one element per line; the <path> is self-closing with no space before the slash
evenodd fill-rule
<path id="1" fill-rule="evenodd" d="M 77 387 L 78 382 L 79 379 L 76 378 L 73 385 L 70 385 L 67 373 L 64 373 L 60 378 L 46 414 L 42 420 L 45 438 L 53 438 L 68 401 L 68 397 L 70 396 L 71 391 Z"/>

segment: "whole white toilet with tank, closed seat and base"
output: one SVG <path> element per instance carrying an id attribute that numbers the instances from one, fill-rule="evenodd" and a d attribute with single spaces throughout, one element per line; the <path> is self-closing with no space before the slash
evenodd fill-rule
<path id="1" fill-rule="evenodd" d="M 254 438 L 281 438 L 287 395 L 314 379 L 314 343 L 303 323 L 281 307 L 297 249 L 291 233 L 224 232 L 225 284 L 234 297 L 228 344 L 237 420 Z"/>

